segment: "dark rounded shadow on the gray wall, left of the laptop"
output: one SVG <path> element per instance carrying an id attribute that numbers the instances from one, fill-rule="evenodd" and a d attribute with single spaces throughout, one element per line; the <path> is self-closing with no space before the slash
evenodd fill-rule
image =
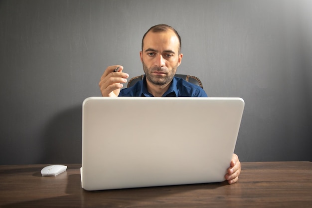
<path id="1" fill-rule="evenodd" d="M 57 114 L 43 134 L 40 164 L 81 163 L 82 106 L 75 106 Z"/>

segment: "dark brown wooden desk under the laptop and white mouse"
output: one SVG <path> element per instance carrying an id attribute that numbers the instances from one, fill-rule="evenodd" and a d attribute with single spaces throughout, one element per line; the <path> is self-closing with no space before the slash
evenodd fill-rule
<path id="1" fill-rule="evenodd" d="M 312 208 L 311 162 L 242 163 L 238 183 L 88 192 L 80 164 L 42 177 L 45 165 L 0 166 L 1 208 Z"/>

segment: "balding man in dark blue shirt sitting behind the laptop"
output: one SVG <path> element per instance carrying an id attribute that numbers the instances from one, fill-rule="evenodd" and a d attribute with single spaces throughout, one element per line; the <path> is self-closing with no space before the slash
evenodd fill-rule
<path id="1" fill-rule="evenodd" d="M 123 72 L 123 66 L 109 66 L 99 82 L 102 96 L 207 97 L 201 87 L 174 77 L 182 57 L 181 38 L 177 31 L 166 24 L 155 25 L 142 39 L 140 58 L 145 72 L 144 79 L 133 87 L 121 90 L 129 74 Z M 117 67 L 119 70 L 114 72 Z M 241 172 L 236 154 L 233 154 L 227 172 L 225 179 L 228 183 L 236 183 Z"/>

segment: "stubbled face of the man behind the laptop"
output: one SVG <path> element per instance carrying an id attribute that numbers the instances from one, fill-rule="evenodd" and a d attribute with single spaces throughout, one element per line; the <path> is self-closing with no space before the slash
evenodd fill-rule
<path id="1" fill-rule="evenodd" d="M 183 56 L 178 53 L 178 37 L 171 30 L 150 31 L 143 41 L 143 51 L 140 51 L 140 56 L 147 81 L 154 85 L 168 84 Z"/>

